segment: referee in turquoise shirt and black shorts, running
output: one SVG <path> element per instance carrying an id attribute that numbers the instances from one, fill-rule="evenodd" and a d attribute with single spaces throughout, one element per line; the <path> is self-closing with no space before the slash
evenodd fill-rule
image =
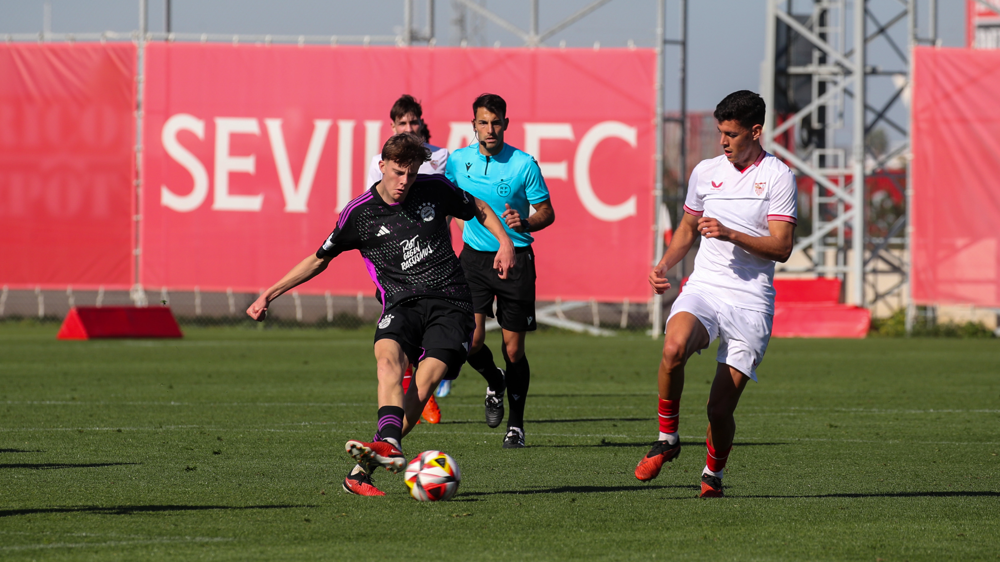
<path id="1" fill-rule="evenodd" d="M 486 379 L 486 423 L 490 427 L 503 421 L 503 397 L 507 394 L 510 415 L 503 447 L 516 449 L 524 447 L 524 404 L 531 381 L 524 336 L 537 327 L 531 233 L 552 224 L 556 215 L 538 163 L 531 155 L 503 142 L 510 123 L 507 102 L 496 94 L 483 94 L 472 103 L 472 112 L 478 142 L 453 152 L 445 175 L 504 219 L 507 235 L 514 243 L 515 265 L 507 279 L 500 279 L 493 270 L 500 243 L 477 222 L 465 223 L 461 260 L 476 313 L 468 361 Z M 529 205 L 535 209 L 530 217 Z M 493 352 L 484 343 L 486 317 L 493 317 L 493 299 L 497 303 L 497 322 L 503 330 L 506 372 L 496 366 Z"/>

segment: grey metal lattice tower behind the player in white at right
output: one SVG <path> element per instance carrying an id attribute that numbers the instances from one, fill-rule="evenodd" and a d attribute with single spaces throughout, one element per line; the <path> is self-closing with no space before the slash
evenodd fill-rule
<path id="1" fill-rule="evenodd" d="M 926 0 L 929 37 L 925 38 L 917 33 L 917 3 L 767 0 L 761 72 L 761 93 L 768 105 L 764 148 L 788 162 L 799 177 L 814 182 L 812 232 L 802 235 L 793 249 L 793 253 L 805 252 L 811 263 L 804 267 L 779 264 L 778 270 L 839 277 L 845 281 L 845 300 L 858 306 L 870 307 L 909 290 L 906 209 L 910 182 L 905 188 L 900 186 L 888 173 L 887 164 L 900 156 L 906 158 L 909 180 L 910 132 L 908 123 L 899 123 L 888 113 L 908 97 L 912 48 L 937 42 L 936 0 Z M 799 8 L 806 5 L 808 11 L 796 12 L 796 4 Z M 897 8 L 883 21 L 876 5 Z M 901 47 L 898 30 L 903 25 L 907 44 Z M 882 58 L 889 69 L 871 60 L 870 45 L 877 40 L 884 42 Z M 869 88 L 869 81 L 878 78 L 892 79 L 887 95 L 873 94 Z M 845 112 L 848 98 L 849 116 Z M 837 131 L 848 123 L 849 151 L 836 142 Z M 892 129 L 903 141 L 877 153 L 869 139 L 879 126 Z M 790 141 L 792 133 L 808 140 Z M 903 194 L 906 208 L 884 234 L 871 236 L 865 178 L 880 175 Z"/>

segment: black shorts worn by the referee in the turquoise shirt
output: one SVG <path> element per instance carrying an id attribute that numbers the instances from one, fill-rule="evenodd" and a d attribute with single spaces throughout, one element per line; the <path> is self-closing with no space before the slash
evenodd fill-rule
<path id="1" fill-rule="evenodd" d="M 472 290 L 472 309 L 493 318 L 497 302 L 497 322 L 510 332 L 530 332 L 535 322 L 535 252 L 531 246 L 514 248 L 514 267 L 500 279 L 493 269 L 496 252 L 481 252 L 468 244 L 462 248 L 462 269 Z"/>

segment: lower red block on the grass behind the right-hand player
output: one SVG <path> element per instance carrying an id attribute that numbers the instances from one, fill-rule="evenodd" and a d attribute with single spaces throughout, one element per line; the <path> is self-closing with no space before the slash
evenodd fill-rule
<path id="1" fill-rule="evenodd" d="M 872 314 L 844 304 L 775 304 L 771 336 L 776 338 L 863 338 Z"/>

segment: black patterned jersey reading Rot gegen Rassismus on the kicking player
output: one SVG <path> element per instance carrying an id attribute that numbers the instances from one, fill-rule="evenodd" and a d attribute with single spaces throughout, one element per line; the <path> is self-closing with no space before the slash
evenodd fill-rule
<path id="1" fill-rule="evenodd" d="M 402 203 L 386 203 L 375 185 L 344 207 L 316 256 L 359 250 L 383 311 L 419 297 L 444 298 L 471 311 L 448 216 L 474 219 L 475 198 L 441 174 L 418 174 Z"/>

